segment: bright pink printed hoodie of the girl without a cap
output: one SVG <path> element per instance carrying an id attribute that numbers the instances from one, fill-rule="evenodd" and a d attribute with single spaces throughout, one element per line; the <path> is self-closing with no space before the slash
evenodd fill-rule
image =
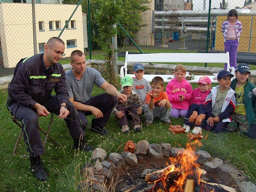
<path id="1" fill-rule="evenodd" d="M 181 82 L 173 78 L 166 86 L 166 93 L 168 95 L 169 101 L 172 104 L 172 108 L 176 109 L 186 109 L 188 110 L 189 104 L 188 100 L 192 97 L 192 86 L 186 79 Z M 179 101 L 179 95 L 183 95 L 185 100 Z"/>

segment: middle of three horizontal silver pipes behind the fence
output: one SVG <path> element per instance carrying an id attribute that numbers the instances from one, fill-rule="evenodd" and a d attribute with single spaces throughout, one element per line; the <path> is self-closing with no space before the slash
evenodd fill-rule
<path id="1" fill-rule="evenodd" d="M 162 24 L 163 19 L 157 18 L 155 20 L 156 24 Z M 165 18 L 164 19 L 164 24 L 181 24 L 182 19 L 169 19 Z M 185 25 L 201 25 L 205 24 L 207 25 L 208 19 L 183 19 L 183 24 Z M 215 24 L 215 20 L 212 20 L 212 24 Z"/>

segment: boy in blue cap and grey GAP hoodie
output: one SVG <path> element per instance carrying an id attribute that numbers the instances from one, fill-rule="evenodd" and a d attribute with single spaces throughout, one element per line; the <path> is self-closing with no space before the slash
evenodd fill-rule
<path id="1" fill-rule="evenodd" d="M 150 84 L 143 77 L 145 73 L 145 68 L 141 63 L 135 63 L 135 65 L 133 66 L 132 73 L 133 75 L 135 75 L 135 78 L 133 79 L 132 90 L 139 95 L 142 103 L 144 103 L 147 92 L 152 91 Z"/>

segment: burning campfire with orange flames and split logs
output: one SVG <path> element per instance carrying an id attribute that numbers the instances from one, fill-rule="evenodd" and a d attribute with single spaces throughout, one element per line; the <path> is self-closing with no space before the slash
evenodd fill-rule
<path id="1" fill-rule="evenodd" d="M 236 191 L 216 183 L 207 183 L 202 177 L 206 171 L 200 169 L 197 164 L 196 145 L 198 140 L 188 143 L 184 151 L 180 151 L 177 157 L 169 157 L 170 163 L 166 163 L 164 169 L 146 175 L 145 182 L 133 187 L 126 192 L 141 191 L 142 188 L 152 185 L 145 192 L 224 192 Z M 142 190 L 143 191 L 143 190 Z"/>

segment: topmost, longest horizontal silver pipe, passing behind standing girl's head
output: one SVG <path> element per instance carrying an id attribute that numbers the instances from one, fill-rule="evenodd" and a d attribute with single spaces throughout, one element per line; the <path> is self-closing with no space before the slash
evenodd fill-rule
<path id="1" fill-rule="evenodd" d="M 217 15 L 228 15 L 228 9 L 212 9 L 211 17 Z M 250 9 L 236 9 L 239 15 L 256 15 L 256 11 Z M 191 11 L 155 11 L 155 17 L 173 18 L 173 17 L 208 17 L 207 10 Z"/>

